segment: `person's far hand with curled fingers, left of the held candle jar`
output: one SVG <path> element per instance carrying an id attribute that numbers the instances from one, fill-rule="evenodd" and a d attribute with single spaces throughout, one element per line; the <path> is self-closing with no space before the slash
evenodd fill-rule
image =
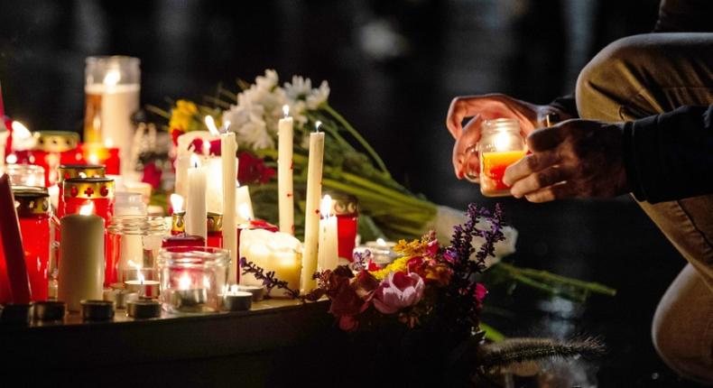
<path id="1" fill-rule="evenodd" d="M 514 118 L 520 123 L 523 135 L 544 126 L 544 117 L 555 113 L 560 118 L 568 118 L 553 106 L 534 105 L 502 94 L 455 97 L 450 103 L 446 126 L 456 139 L 453 146 L 453 169 L 458 179 L 463 179 L 467 171 L 478 171 L 475 145 L 480 139 L 480 125 L 483 120 Z M 472 117 L 463 126 L 463 120 Z"/>

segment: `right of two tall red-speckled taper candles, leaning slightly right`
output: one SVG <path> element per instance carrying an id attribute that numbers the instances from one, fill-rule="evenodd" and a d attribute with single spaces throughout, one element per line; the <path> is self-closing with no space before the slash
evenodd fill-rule
<path id="1" fill-rule="evenodd" d="M 310 160 L 307 163 L 307 195 L 304 215 L 304 254 L 302 255 L 301 292 L 317 286 L 312 274 L 317 270 L 319 240 L 319 199 L 322 196 L 322 162 L 324 161 L 324 133 L 310 134 Z"/>

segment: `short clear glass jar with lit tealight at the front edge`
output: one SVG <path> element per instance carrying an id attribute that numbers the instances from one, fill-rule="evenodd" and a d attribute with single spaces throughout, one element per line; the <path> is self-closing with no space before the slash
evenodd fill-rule
<path id="1" fill-rule="evenodd" d="M 227 289 L 230 256 L 213 247 L 170 247 L 159 253 L 162 308 L 171 313 L 215 312 Z"/>

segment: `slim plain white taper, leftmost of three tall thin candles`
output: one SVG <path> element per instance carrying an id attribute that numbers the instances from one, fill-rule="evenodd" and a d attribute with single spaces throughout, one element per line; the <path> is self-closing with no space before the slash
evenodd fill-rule
<path id="1" fill-rule="evenodd" d="M 220 159 L 223 167 L 223 248 L 230 251 L 228 282 L 237 282 L 237 224 L 236 224 L 236 179 L 237 179 L 236 134 L 220 135 Z"/>

